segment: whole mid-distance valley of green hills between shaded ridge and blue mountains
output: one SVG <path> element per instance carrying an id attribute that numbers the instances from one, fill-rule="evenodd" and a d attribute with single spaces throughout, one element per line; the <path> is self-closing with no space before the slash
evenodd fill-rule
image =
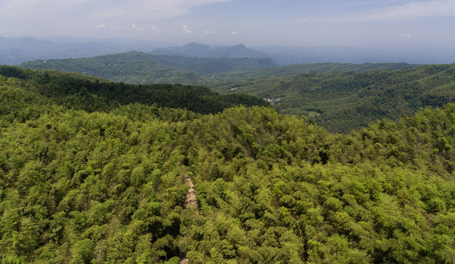
<path id="1" fill-rule="evenodd" d="M 270 58 L 203 58 L 119 53 L 37 60 L 24 68 L 73 71 L 131 84 L 202 85 L 219 94 L 275 98 L 282 114 L 313 116 L 330 132 L 350 133 L 382 118 L 454 102 L 453 64 L 314 63 L 277 66 Z M 283 98 L 276 101 L 277 98 Z M 314 113 L 319 113 L 315 115 Z"/>

